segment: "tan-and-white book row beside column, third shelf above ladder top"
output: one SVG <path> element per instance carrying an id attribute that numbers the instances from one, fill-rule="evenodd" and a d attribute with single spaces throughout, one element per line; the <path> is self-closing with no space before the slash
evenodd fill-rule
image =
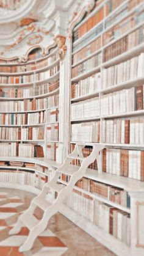
<path id="1" fill-rule="evenodd" d="M 101 73 L 89 76 L 80 80 L 77 84 L 71 85 L 71 98 L 98 92 L 101 88 Z"/>

